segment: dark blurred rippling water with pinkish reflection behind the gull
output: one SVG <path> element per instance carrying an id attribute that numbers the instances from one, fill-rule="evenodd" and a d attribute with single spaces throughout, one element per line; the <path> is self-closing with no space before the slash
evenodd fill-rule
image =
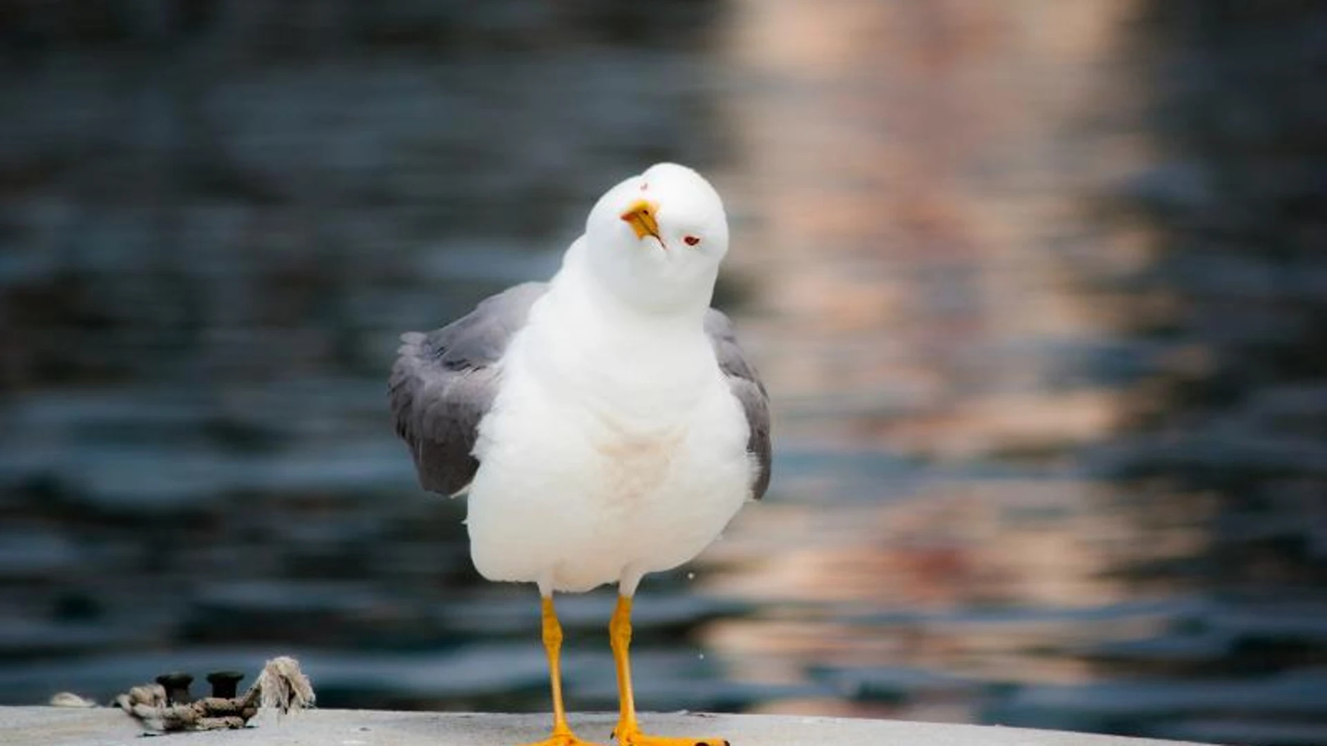
<path id="1" fill-rule="evenodd" d="M 386 368 L 677 159 L 730 203 L 776 481 L 646 581 L 644 706 L 1327 742 L 1327 13 L 35 8 L 0 701 L 284 652 L 326 706 L 547 708 L 533 591 L 415 487 Z M 576 709 L 610 608 L 560 601 Z"/>

